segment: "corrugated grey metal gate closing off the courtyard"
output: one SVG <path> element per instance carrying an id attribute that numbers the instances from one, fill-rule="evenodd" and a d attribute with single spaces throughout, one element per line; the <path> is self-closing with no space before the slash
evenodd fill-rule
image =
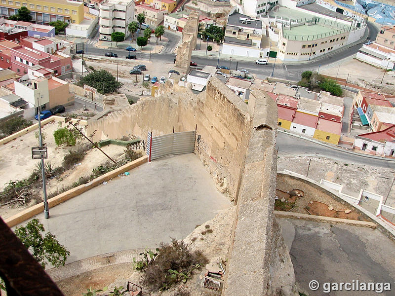
<path id="1" fill-rule="evenodd" d="M 148 132 L 146 152 L 149 161 L 167 155 L 193 153 L 195 135 L 196 131 L 192 131 L 152 137 L 152 132 Z"/>

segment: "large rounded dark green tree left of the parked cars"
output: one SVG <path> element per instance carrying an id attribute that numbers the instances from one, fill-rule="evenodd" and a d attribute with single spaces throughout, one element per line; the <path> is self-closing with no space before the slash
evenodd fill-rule
<path id="1" fill-rule="evenodd" d="M 123 83 L 118 82 L 117 79 L 108 71 L 100 70 L 93 71 L 83 76 L 78 83 L 80 86 L 87 84 L 96 88 L 101 94 L 108 94 L 115 92 Z"/>

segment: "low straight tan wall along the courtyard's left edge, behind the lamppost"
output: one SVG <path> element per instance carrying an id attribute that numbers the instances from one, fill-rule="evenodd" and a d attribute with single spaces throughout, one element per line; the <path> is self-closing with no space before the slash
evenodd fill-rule
<path id="1" fill-rule="evenodd" d="M 70 190 L 67 190 L 55 197 L 52 197 L 48 199 L 48 207 L 53 208 L 54 206 L 65 202 L 97 185 L 100 185 L 104 181 L 108 181 L 114 177 L 117 177 L 119 174 L 124 173 L 126 171 L 129 171 L 131 169 L 134 169 L 135 167 L 138 167 L 139 165 L 142 165 L 143 163 L 147 162 L 148 156 L 144 155 L 143 157 L 140 157 L 128 164 L 125 164 L 121 166 L 118 169 L 115 169 L 111 172 L 108 172 L 107 174 L 104 174 L 91 182 L 83 185 L 79 185 L 78 187 L 72 188 Z M 23 210 L 22 212 L 6 219 L 4 222 L 8 225 L 8 227 L 13 227 L 15 225 L 18 225 L 44 211 L 44 203 L 40 202 L 39 204 L 32 206 L 26 210 Z"/>

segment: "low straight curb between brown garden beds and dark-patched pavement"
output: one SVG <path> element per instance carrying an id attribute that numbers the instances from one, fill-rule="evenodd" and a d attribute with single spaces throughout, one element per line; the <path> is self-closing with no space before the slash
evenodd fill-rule
<path id="1" fill-rule="evenodd" d="M 376 224 L 368 221 L 357 221 L 349 219 L 331 218 L 325 216 L 316 216 L 309 214 L 293 213 L 293 212 L 283 212 L 275 211 L 276 218 L 286 218 L 286 219 L 303 219 L 307 221 L 324 222 L 324 223 L 335 223 L 335 224 L 348 224 L 354 226 L 362 226 L 376 229 Z"/>

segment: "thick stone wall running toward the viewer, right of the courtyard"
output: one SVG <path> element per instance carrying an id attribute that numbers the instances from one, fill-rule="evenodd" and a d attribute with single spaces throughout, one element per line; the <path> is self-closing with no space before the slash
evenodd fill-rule
<path id="1" fill-rule="evenodd" d="M 253 122 L 222 295 L 296 296 L 293 265 L 274 214 L 276 103 L 252 91 L 248 110 Z"/>

